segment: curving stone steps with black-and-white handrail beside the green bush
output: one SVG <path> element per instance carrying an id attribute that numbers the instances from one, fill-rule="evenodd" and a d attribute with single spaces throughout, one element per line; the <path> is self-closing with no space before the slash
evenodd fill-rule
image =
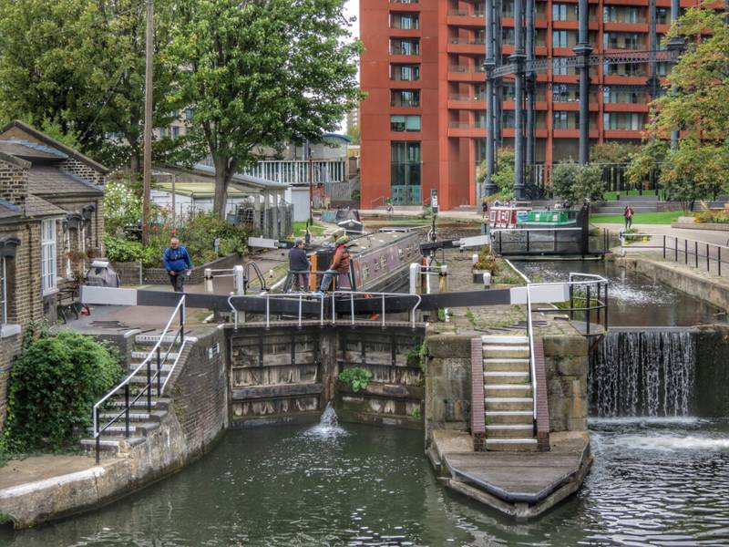
<path id="1" fill-rule="evenodd" d="M 131 359 L 129 359 L 127 369 L 124 371 L 124 377 L 127 377 L 133 372 L 149 355 L 149 352 L 157 344 L 159 335 L 137 335 L 134 340 L 134 349 L 131 352 Z M 186 336 L 185 344 L 181 348 L 180 356 L 180 340 L 173 335 L 165 335 L 160 345 L 161 358 L 164 359 L 165 353 L 169 346 L 169 355 L 167 359 L 162 362 L 161 370 L 161 384 L 164 385 L 168 379 L 170 372 L 173 377 L 170 381 L 180 374 L 180 370 L 185 364 L 185 360 L 190 356 L 190 349 L 197 341 L 192 336 Z M 177 362 L 177 366 L 175 363 Z M 173 370 L 174 366 L 174 370 Z M 151 376 L 153 377 L 157 371 L 157 357 L 152 356 Z M 137 397 L 148 383 L 147 379 L 147 366 L 142 366 L 137 373 L 130 378 L 129 381 L 129 402 Z M 169 387 L 168 387 L 169 390 Z M 162 394 L 164 396 L 164 393 Z M 162 419 L 167 416 L 169 411 L 170 399 L 169 397 L 158 397 L 157 395 L 157 382 L 153 380 L 151 405 L 148 408 L 148 397 L 147 393 L 139 397 L 139 399 L 130 404 L 129 408 L 129 435 L 126 435 L 126 421 L 124 416 L 118 418 L 118 420 L 107 429 L 101 432 L 100 436 L 100 449 L 101 452 L 107 456 L 115 456 L 119 452 L 125 451 L 128 448 L 137 446 L 145 441 L 149 433 L 159 428 L 159 424 Z M 112 397 L 108 399 L 104 408 L 99 411 L 99 426 L 104 427 L 109 423 L 110 420 L 115 418 L 119 412 L 122 412 L 126 407 L 124 389 L 119 389 Z M 87 437 L 81 439 L 81 446 L 87 451 L 93 452 L 96 449 L 96 439 L 94 439 L 94 428 L 87 428 Z"/>

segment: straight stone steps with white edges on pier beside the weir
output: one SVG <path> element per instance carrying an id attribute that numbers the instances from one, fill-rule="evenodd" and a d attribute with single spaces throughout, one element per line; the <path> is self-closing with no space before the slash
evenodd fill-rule
<path id="1" fill-rule="evenodd" d="M 487 450 L 536 450 L 527 336 L 486 335 L 483 344 Z"/>

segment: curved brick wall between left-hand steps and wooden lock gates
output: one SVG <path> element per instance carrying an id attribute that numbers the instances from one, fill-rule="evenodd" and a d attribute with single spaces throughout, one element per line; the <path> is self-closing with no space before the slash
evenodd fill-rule
<path id="1" fill-rule="evenodd" d="M 180 422 L 189 456 L 204 450 L 228 426 L 225 351 L 222 329 L 200 336 L 172 387 L 173 411 Z"/>

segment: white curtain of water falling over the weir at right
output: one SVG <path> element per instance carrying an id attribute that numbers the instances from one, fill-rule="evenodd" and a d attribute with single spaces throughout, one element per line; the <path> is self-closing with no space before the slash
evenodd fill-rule
<path id="1" fill-rule="evenodd" d="M 696 341 L 686 330 L 613 330 L 590 356 L 590 415 L 686 416 Z"/>

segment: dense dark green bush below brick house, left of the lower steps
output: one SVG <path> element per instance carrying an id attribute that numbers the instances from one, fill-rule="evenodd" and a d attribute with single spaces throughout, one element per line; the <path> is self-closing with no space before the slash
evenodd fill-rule
<path id="1" fill-rule="evenodd" d="M 57 450 L 91 423 L 91 408 L 121 376 L 120 356 L 89 336 L 45 335 L 15 359 L 5 440 L 15 452 Z"/>

